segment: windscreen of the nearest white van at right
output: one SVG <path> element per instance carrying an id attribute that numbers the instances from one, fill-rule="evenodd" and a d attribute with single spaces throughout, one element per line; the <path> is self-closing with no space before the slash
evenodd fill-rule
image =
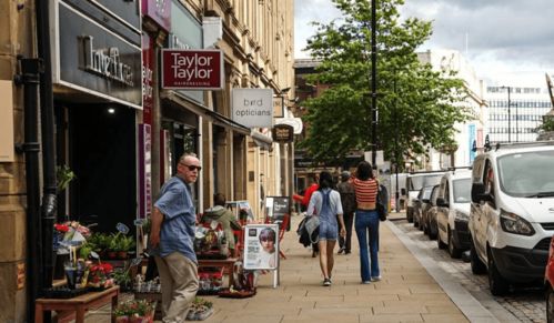
<path id="1" fill-rule="evenodd" d="M 517 198 L 554 196 L 554 150 L 498 158 L 501 190 Z"/>

